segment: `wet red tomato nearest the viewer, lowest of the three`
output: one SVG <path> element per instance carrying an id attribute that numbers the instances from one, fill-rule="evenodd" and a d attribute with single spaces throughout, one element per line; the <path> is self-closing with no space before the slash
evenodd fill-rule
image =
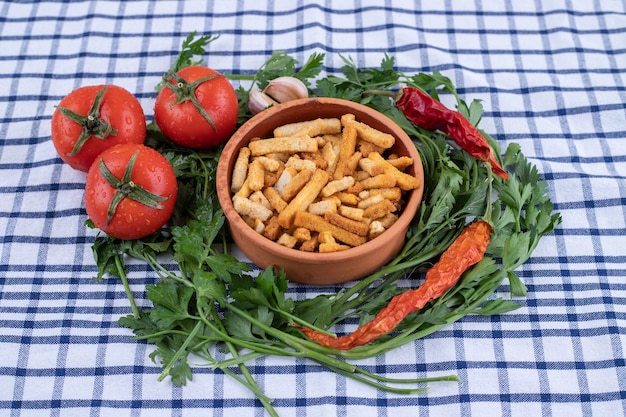
<path id="1" fill-rule="evenodd" d="M 131 157 L 136 154 L 134 165 Z M 100 162 L 115 177 L 105 178 Z M 130 174 L 130 175 L 129 175 Z M 137 191 L 140 188 L 143 191 Z M 152 194 L 150 207 L 134 200 L 136 194 Z M 104 151 L 91 165 L 85 187 L 85 208 L 96 227 L 119 239 L 139 239 L 159 230 L 172 216 L 178 184 L 170 162 L 145 145 L 121 144 Z M 123 196 L 109 214 L 114 196 Z M 158 206 L 158 207 L 156 207 Z"/>

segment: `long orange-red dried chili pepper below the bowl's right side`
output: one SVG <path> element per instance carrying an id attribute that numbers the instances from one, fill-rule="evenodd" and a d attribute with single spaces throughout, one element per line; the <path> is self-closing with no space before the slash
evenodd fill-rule
<path id="1" fill-rule="evenodd" d="M 333 337 L 308 327 L 296 327 L 314 342 L 340 350 L 376 340 L 395 329 L 408 314 L 420 310 L 454 286 L 466 269 L 483 258 L 490 236 L 489 223 L 478 220 L 468 225 L 428 270 L 422 285 L 393 297 L 376 317 L 349 335 Z"/>

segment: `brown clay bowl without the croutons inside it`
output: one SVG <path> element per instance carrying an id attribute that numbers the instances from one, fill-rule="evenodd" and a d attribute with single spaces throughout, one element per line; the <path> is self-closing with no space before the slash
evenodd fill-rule
<path id="1" fill-rule="evenodd" d="M 400 251 L 409 224 L 422 200 L 423 185 L 405 195 L 402 214 L 388 230 L 365 244 L 333 253 L 310 253 L 281 246 L 245 223 L 233 207 L 230 192 L 230 178 L 239 150 L 254 137 L 271 137 L 274 128 L 278 126 L 316 118 L 340 118 L 346 113 L 354 114 L 357 121 L 393 135 L 396 143 L 392 151 L 413 158 L 413 166 L 407 172 L 415 175 L 423 184 L 424 170 L 419 154 L 411 139 L 397 124 L 369 107 L 333 98 L 294 100 L 260 112 L 235 132 L 219 160 L 217 196 L 235 244 L 261 268 L 270 265 L 284 268 L 290 281 L 328 285 L 358 279 L 374 272 Z"/>

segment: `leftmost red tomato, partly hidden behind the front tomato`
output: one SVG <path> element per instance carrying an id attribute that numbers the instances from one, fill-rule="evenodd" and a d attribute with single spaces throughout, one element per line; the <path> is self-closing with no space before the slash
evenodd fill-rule
<path id="1" fill-rule="evenodd" d="M 105 89 L 102 101 L 92 109 L 102 89 Z M 70 119 L 62 109 L 72 111 L 82 122 Z M 89 121 L 90 115 L 93 121 Z M 72 154 L 81 134 L 86 141 Z M 61 100 L 52 115 L 52 143 L 61 159 L 80 171 L 87 172 L 96 157 L 114 145 L 143 144 L 145 139 L 146 117 L 139 101 L 115 85 L 78 88 Z"/>

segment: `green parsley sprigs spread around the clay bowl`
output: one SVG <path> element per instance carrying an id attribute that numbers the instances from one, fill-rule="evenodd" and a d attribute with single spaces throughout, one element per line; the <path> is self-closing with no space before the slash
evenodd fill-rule
<path id="1" fill-rule="evenodd" d="M 212 38 L 203 39 L 194 42 L 190 35 L 183 45 L 185 56 L 179 61 L 194 62 L 193 55 L 202 50 L 198 45 Z M 270 415 L 277 415 L 271 399 L 246 367 L 246 363 L 264 355 L 304 357 L 395 393 L 416 393 L 427 382 L 456 380 L 455 376 L 391 379 L 350 361 L 422 338 L 468 314 L 488 316 L 517 308 L 510 297 L 494 297 L 494 293 L 505 279 L 511 295 L 526 293 L 515 270 L 531 256 L 541 237 L 561 221 L 553 212 L 545 182 L 517 144 L 509 145 L 502 157 L 510 179 L 492 178 L 482 162 L 460 150 L 449 138 L 411 124 L 388 96 L 372 94 L 372 90 L 391 91 L 402 85 L 422 88 L 433 96 L 449 94 L 455 98 L 457 109 L 478 123 L 482 105 L 476 100 L 469 105 L 464 102 L 448 78 L 438 72 L 405 75 L 395 69 L 394 59 L 385 55 L 380 68 L 372 69 L 359 69 L 343 58 L 341 75 L 315 81 L 323 59 L 323 54 L 314 54 L 298 68 L 293 58 L 275 53 L 252 76 L 227 76 L 248 80 L 260 88 L 278 76 L 296 76 L 315 95 L 358 101 L 377 109 L 414 139 L 424 166 L 424 199 L 407 232 L 405 246 L 385 267 L 336 293 L 304 300 L 289 297 L 290 284 L 283 273 L 272 268 L 255 272 L 229 253 L 225 218 L 215 198 L 214 174 L 221 148 L 199 153 L 177 147 L 154 124 L 148 129 L 148 144 L 172 162 L 182 184 L 171 224 L 150 238 L 120 241 L 98 236 L 93 245 L 98 278 L 105 273 L 120 278 L 133 310 L 119 324 L 132 329 L 137 339 L 155 346 L 151 358 L 163 366 L 159 379 L 169 376 L 174 384 L 184 385 L 192 379 L 189 364 L 193 357 L 194 362 L 204 361 L 250 389 Z M 241 123 L 250 117 L 248 91 L 243 87 L 237 91 Z M 498 144 L 487 138 L 499 154 Z M 407 317 L 393 333 L 365 346 L 338 351 L 307 340 L 292 326 L 297 323 L 328 331 L 340 322 L 357 325 L 368 321 L 394 295 L 404 291 L 399 280 L 411 277 L 418 286 L 420 272 L 436 261 L 468 221 L 485 213 L 489 213 L 486 220 L 494 226 L 487 256 L 453 289 Z M 147 262 L 158 276 L 145 291 L 152 308 L 137 308 L 127 278 L 127 256 Z"/>

